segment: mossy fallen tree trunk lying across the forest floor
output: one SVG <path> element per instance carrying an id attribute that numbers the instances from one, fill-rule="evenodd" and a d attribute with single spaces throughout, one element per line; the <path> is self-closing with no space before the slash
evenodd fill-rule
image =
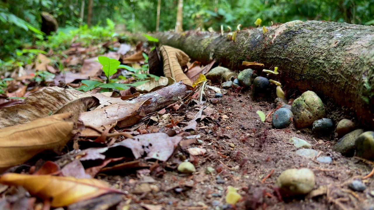
<path id="1" fill-rule="evenodd" d="M 282 84 L 352 108 L 364 126 L 374 127 L 374 27 L 292 21 L 267 29 L 239 31 L 235 42 L 226 34 L 192 31 L 152 36 L 203 64 L 216 59 L 232 70 L 243 69 L 243 61 L 279 67 Z"/>

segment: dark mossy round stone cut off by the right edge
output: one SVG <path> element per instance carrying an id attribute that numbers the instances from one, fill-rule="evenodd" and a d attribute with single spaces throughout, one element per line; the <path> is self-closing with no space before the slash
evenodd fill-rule
<path id="1" fill-rule="evenodd" d="M 374 159 L 374 131 L 367 131 L 355 140 L 357 156 L 367 160 Z"/>

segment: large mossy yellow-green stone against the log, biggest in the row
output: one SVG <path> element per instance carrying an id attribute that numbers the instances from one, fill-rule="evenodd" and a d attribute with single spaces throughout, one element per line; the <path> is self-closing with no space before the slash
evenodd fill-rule
<path id="1" fill-rule="evenodd" d="M 294 114 L 295 127 L 305 128 L 314 121 L 325 116 L 325 106 L 318 95 L 308 90 L 292 103 L 291 111 Z"/>

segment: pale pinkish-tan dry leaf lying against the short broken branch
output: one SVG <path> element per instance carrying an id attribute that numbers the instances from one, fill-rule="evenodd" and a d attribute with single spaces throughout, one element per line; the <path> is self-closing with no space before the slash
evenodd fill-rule
<path id="1" fill-rule="evenodd" d="M 118 99 L 118 98 L 116 98 Z M 111 104 L 89 112 L 83 112 L 80 120 L 85 125 L 100 127 L 126 120 L 137 114 L 140 106 L 147 104 L 148 100 L 131 104 L 127 101 Z"/>

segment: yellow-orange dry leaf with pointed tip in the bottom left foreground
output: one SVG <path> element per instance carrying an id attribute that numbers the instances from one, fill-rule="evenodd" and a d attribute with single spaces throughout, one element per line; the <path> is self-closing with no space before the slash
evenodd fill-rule
<path id="1" fill-rule="evenodd" d="M 107 193 L 123 194 L 110 188 L 106 182 L 88 178 L 6 173 L 1 176 L 0 182 L 4 185 L 21 185 L 31 195 L 51 200 L 52 207 L 68 206 Z"/>

